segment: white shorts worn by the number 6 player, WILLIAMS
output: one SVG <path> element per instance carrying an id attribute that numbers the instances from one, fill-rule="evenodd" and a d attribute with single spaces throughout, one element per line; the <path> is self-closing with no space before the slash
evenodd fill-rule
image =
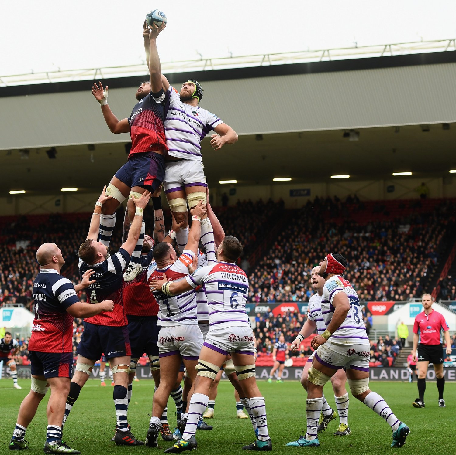
<path id="1" fill-rule="evenodd" d="M 254 332 L 248 326 L 211 327 L 204 346 L 221 354 L 251 354 L 255 352 Z"/>

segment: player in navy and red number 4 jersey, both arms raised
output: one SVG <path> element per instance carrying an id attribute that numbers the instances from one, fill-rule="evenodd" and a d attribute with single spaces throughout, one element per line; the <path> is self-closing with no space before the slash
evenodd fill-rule
<path id="1" fill-rule="evenodd" d="M 93 277 L 97 280 L 88 286 L 87 302 L 97 303 L 109 298 L 114 301 L 114 311 L 84 319 L 84 332 L 78 344 L 78 361 L 67 397 L 63 424 L 78 399 L 81 388 L 87 382 L 93 365 L 104 353 L 109 361 L 115 384 L 113 399 L 117 425 L 114 440 L 116 444 L 142 445 L 143 443 L 131 434 L 127 423 L 127 386 L 131 350 L 128 321 L 122 299 L 122 272 L 140 235 L 142 213 L 149 202 L 150 192 L 145 191 L 140 198 L 134 199 L 136 212 L 128 238 L 116 254 L 108 257 L 108 248 L 102 242 L 97 242 L 101 208 L 110 199 L 110 196 L 106 196 L 105 189 L 95 205 L 87 239 L 79 247 L 79 271 L 83 274 L 86 270 L 93 269 Z"/>

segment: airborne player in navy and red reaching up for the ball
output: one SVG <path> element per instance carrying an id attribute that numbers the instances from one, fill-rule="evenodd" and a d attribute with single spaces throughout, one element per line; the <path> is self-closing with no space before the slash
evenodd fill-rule
<path id="1" fill-rule="evenodd" d="M 146 51 L 156 49 L 155 40 L 165 28 L 152 25 L 144 27 L 144 39 L 147 41 Z M 155 56 L 155 53 L 154 53 Z M 147 56 L 148 57 L 148 56 Z M 157 63 L 158 61 L 158 63 Z M 128 161 L 111 179 L 106 194 L 112 199 L 104 204 L 100 219 L 100 241 L 109 246 L 112 231 L 115 226 L 115 210 L 119 204 L 129 198 L 127 207 L 130 223 L 135 215 L 135 205 L 132 197 L 138 198 L 147 189 L 154 193 L 165 176 L 165 155 L 167 153 L 165 140 L 165 101 L 166 93 L 161 80 L 160 60 L 153 57 L 150 61 L 150 81 L 142 82 L 136 92 L 137 104 L 129 118 L 118 120 L 108 106 L 108 87 L 103 88 L 93 84 L 92 94 L 101 104 L 104 120 L 112 133 L 130 133 L 131 150 Z M 135 251 L 131 255 L 130 266 L 124 274 L 125 281 L 135 278 L 142 270 L 140 265 L 141 246 L 144 239 L 145 226 L 141 227 Z"/>

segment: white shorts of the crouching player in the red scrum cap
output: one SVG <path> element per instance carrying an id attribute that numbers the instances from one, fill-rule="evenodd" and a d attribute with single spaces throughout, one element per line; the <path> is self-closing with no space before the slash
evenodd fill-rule
<path id="1" fill-rule="evenodd" d="M 325 344 L 318 347 L 314 355 L 322 365 L 329 368 L 340 369 L 345 367 L 353 370 L 369 371 L 369 342 L 341 342 L 329 338 Z"/>

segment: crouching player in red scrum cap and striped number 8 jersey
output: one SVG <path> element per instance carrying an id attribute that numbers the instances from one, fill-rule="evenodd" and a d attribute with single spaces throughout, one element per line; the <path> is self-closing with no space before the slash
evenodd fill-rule
<path id="1" fill-rule="evenodd" d="M 328 254 L 320 263 L 318 274 L 325 279 L 321 315 L 326 330 L 311 341 L 316 353 L 307 379 L 306 436 L 287 445 L 320 445 L 317 428 L 323 405 L 323 386 L 338 369 L 345 368 L 352 395 L 386 420 L 393 430 L 391 447 L 401 447 L 410 429 L 397 419 L 379 394 L 369 389 L 369 340 L 363 327 L 358 295 L 342 277 L 346 266 L 347 259 L 339 253 Z"/>

